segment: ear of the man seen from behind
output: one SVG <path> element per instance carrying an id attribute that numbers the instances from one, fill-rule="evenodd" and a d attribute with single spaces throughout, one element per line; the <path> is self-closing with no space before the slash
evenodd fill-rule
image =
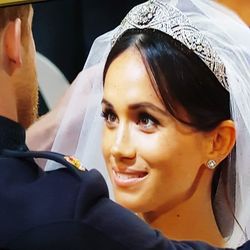
<path id="1" fill-rule="evenodd" d="M 22 64 L 21 20 L 10 21 L 3 34 L 4 65 L 9 75 L 12 75 Z"/>

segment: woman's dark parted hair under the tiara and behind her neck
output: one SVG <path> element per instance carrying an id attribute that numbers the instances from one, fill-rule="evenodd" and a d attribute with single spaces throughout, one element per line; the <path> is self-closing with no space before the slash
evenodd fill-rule
<path id="1" fill-rule="evenodd" d="M 113 60 L 131 47 L 141 54 L 154 90 L 175 119 L 204 132 L 231 119 L 229 93 L 211 70 L 192 50 L 157 30 L 126 31 L 108 55 L 104 79 Z M 185 110 L 188 119 L 180 116 L 178 107 Z M 227 175 L 229 167 L 234 168 L 231 157 L 219 164 L 212 183 L 214 214 L 223 236 L 230 235 L 234 218 L 235 186 L 229 180 L 235 177 Z"/>

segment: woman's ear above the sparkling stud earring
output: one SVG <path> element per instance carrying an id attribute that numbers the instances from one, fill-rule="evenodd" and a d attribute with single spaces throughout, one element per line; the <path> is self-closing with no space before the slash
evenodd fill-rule
<path id="1" fill-rule="evenodd" d="M 208 159 L 219 164 L 232 151 L 235 145 L 236 130 L 232 120 L 221 122 L 209 136 Z"/>

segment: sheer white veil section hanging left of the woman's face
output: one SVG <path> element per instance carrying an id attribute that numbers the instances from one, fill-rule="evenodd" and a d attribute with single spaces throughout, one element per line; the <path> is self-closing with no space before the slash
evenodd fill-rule
<path id="1" fill-rule="evenodd" d="M 52 151 L 74 155 L 88 169 L 98 169 L 108 184 L 111 198 L 112 187 L 101 152 L 101 101 L 103 68 L 114 33 L 115 30 L 108 32 L 93 43 L 83 70 L 66 93 L 68 104 L 51 147 Z M 47 161 L 45 170 L 60 167 Z"/>

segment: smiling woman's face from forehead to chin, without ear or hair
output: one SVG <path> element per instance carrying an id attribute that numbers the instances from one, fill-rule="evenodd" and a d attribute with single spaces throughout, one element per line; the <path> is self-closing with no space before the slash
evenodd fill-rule
<path id="1" fill-rule="evenodd" d="M 136 49 L 111 63 L 102 109 L 103 153 L 117 202 L 146 213 L 187 199 L 206 162 L 205 135 L 169 115 Z"/>

